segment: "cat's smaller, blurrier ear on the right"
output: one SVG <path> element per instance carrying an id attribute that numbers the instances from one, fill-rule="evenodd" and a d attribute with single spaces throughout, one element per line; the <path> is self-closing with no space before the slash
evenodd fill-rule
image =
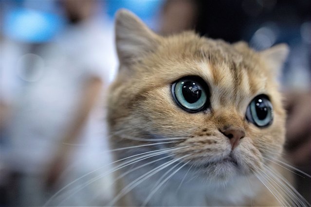
<path id="1" fill-rule="evenodd" d="M 260 52 L 262 58 L 274 69 L 276 73 L 282 68 L 290 49 L 287 44 L 278 44 Z"/>

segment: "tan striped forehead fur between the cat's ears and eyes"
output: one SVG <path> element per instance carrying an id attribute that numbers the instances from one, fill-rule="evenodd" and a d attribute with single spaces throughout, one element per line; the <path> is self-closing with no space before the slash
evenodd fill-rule
<path id="1" fill-rule="evenodd" d="M 258 56 L 248 47 L 241 50 L 222 40 L 183 34 L 168 38 L 159 50 L 161 63 L 155 72 L 169 81 L 197 75 L 213 89 L 244 91 L 248 96 L 266 88 L 268 76 Z"/>

